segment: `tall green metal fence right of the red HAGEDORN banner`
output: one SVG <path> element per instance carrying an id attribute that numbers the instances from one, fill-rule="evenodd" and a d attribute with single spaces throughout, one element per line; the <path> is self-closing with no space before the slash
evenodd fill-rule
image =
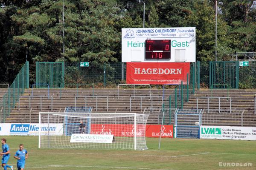
<path id="1" fill-rule="evenodd" d="M 256 88 L 256 61 L 248 60 L 248 65 L 240 65 L 242 61 L 233 62 L 196 62 L 197 88 Z M 224 85 L 224 86 L 221 86 Z"/>

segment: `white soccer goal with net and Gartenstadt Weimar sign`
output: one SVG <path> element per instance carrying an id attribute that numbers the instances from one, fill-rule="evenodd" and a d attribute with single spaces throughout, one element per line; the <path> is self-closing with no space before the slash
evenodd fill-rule
<path id="1" fill-rule="evenodd" d="M 39 148 L 146 150 L 149 114 L 39 113 Z M 80 126 L 81 122 L 84 124 Z M 81 127 L 84 132 L 81 133 Z"/>

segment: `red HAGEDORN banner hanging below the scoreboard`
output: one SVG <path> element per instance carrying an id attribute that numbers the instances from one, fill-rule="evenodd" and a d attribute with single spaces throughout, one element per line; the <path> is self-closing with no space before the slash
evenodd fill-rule
<path id="1" fill-rule="evenodd" d="M 190 62 L 127 62 L 126 83 L 186 85 L 189 71 Z"/>

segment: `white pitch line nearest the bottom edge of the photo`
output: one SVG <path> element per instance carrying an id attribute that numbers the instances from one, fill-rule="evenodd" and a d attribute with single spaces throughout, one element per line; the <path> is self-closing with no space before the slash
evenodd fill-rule
<path id="1" fill-rule="evenodd" d="M 26 167 L 30 168 L 47 168 L 47 167 L 92 167 L 92 168 L 112 168 L 112 169 L 135 169 L 135 170 L 171 170 L 171 169 L 152 169 L 152 168 L 141 168 L 141 167 L 104 167 L 104 166 L 79 166 L 79 165 L 32 165 L 28 164 L 26 166 L 38 166 L 38 167 Z M 41 167 L 39 167 L 41 166 Z"/>

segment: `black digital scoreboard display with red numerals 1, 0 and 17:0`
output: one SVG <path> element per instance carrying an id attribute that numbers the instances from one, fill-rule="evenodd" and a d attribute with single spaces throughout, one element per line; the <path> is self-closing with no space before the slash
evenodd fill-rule
<path id="1" fill-rule="evenodd" d="M 171 59 L 171 40 L 145 40 L 145 59 Z"/>

